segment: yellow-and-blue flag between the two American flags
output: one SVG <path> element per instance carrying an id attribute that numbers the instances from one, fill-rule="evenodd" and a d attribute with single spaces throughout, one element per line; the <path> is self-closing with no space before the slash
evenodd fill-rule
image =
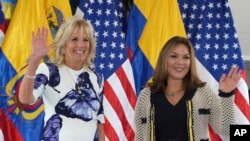
<path id="1" fill-rule="evenodd" d="M 186 36 L 177 1 L 134 1 L 126 43 L 130 48 L 137 95 L 152 76 L 164 43 L 175 35 Z"/>

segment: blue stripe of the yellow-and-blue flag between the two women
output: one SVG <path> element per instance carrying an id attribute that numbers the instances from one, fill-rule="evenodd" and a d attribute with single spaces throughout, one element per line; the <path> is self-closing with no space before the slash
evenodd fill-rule
<path id="1" fill-rule="evenodd" d="M 132 51 L 131 63 L 137 95 L 139 95 L 140 90 L 144 87 L 146 82 L 153 74 L 152 66 L 138 46 L 138 40 L 143 32 L 145 23 L 145 17 L 142 15 L 136 5 L 133 5 L 128 20 L 126 46 Z"/>

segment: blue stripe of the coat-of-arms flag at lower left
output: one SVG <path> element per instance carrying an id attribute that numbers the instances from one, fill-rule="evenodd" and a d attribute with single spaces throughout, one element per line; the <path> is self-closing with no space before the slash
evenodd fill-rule
<path id="1" fill-rule="evenodd" d="M 18 112 L 18 114 L 16 114 L 15 110 L 20 110 L 17 107 L 18 104 L 17 103 L 9 104 L 9 102 L 13 102 L 13 96 L 17 96 L 15 92 L 17 89 L 17 83 L 19 81 L 16 81 L 16 84 L 10 90 L 7 90 L 6 86 L 10 82 L 10 80 L 17 74 L 17 72 L 9 63 L 8 59 L 5 57 L 1 49 L 0 49 L 0 64 L 1 64 L 0 65 L 0 72 L 1 72 L 0 74 L 0 78 L 1 78 L 0 80 L 0 108 L 5 112 L 5 115 L 7 115 L 7 117 L 12 121 L 12 123 L 20 131 L 22 137 L 24 137 L 26 141 L 39 141 L 41 138 L 40 133 L 42 131 L 44 113 L 42 112 L 33 120 L 24 119 L 22 112 Z M 32 113 L 37 108 L 38 107 L 34 107 L 33 109 L 27 109 L 26 112 Z M 8 123 L 5 123 L 5 124 L 8 124 Z M 41 125 L 41 126 L 38 126 L 38 125 Z M 38 134 L 30 134 L 30 133 L 38 133 Z"/>

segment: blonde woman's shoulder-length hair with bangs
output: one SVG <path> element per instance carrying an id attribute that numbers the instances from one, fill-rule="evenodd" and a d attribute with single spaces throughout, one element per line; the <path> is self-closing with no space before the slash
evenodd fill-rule
<path id="1" fill-rule="evenodd" d="M 83 66 L 90 67 L 93 64 L 95 52 L 96 52 L 96 39 L 94 37 L 94 29 L 92 25 L 84 20 L 83 18 L 72 16 L 66 20 L 57 31 L 56 37 L 52 44 L 54 48 L 54 58 L 53 63 L 60 66 L 64 64 L 64 51 L 66 44 L 69 42 L 70 37 L 73 33 L 78 30 L 84 30 L 85 33 L 89 36 L 90 39 L 90 49 L 89 54 Z"/>

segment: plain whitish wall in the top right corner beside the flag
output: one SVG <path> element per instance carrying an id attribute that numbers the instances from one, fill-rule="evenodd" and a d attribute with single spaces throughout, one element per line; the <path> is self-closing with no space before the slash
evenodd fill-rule
<path id="1" fill-rule="evenodd" d="M 250 0 L 228 0 L 244 60 L 250 61 Z"/>

